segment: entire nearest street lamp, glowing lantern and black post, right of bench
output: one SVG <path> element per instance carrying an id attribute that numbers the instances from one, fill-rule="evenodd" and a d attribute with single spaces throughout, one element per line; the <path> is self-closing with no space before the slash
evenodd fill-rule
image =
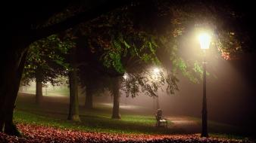
<path id="1" fill-rule="evenodd" d="M 201 137 L 208 137 L 208 124 L 207 124 L 207 101 L 206 101 L 206 61 L 205 53 L 210 47 L 211 36 L 207 33 L 201 33 L 199 35 L 200 47 L 203 50 L 203 68 L 204 68 L 204 79 L 203 79 L 203 101 L 201 111 Z"/>

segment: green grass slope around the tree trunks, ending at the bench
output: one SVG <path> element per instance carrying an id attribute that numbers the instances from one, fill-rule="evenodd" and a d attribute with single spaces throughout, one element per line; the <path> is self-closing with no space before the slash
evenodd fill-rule
<path id="1" fill-rule="evenodd" d="M 92 110 L 80 106 L 80 123 L 67 120 L 67 102 L 60 102 L 61 97 L 45 97 L 42 105 L 34 103 L 34 96 L 19 96 L 14 121 L 42 126 L 54 126 L 61 129 L 75 129 L 89 132 L 170 134 L 171 128 L 156 128 L 152 115 L 136 115 L 122 110 L 122 119 L 111 119 L 111 106 L 95 105 Z M 58 101 L 58 102 L 54 102 Z M 171 122 L 168 123 L 169 125 Z"/>

